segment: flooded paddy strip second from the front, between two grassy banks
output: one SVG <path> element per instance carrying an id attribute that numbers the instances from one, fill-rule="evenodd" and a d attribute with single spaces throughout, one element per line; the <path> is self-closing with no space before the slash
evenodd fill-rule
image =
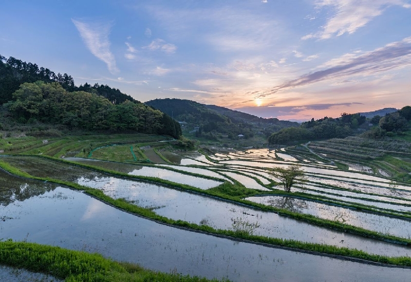
<path id="1" fill-rule="evenodd" d="M 165 217 L 197 224 L 204 222 L 217 229 L 232 229 L 233 220 L 241 218 L 243 221 L 260 224 L 260 227 L 255 230 L 256 235 L 324 243 L 391 256 L 405 255 L 410 251 L 404 246 L 328 230 L 275 213 L 256 211 L 241 205 L 151 183 L 114 177 L 80 178 L 78 183 L 100 189 L 113 198 L 124 198 L 136 205 L 155 208 L 157 214 Z"/>

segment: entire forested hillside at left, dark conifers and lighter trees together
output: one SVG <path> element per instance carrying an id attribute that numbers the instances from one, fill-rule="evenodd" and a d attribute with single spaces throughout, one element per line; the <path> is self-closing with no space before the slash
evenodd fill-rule
<path id="1" fill-rule="evenodd" d="M 62 124 L 68 129 L 137 131 L 181 136 L 180 124 L 119 89 L 76 86 L 67 73 L 0 55 L 0 104 L 19 123 Z"/>

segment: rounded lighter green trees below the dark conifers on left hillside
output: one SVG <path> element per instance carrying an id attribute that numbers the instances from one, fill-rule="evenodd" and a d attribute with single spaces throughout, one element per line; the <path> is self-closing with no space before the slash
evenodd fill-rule
<path id="1" fill-rule="evenodd" d="M 59 83 L 23 83 L 5 106 L 21 123 L 36 121 L 87 130 L 136 131 L 178 138 L 178 122 L 140 102 L 113 104 L 96 93 L 65 90 Z"/>

